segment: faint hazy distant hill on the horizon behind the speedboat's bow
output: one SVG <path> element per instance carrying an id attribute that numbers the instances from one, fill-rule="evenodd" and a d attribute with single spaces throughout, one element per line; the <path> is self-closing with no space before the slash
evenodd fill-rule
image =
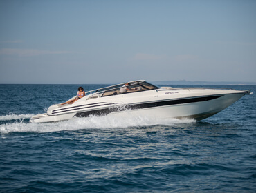
<path id="1" fill-rule="evenodd" d="M 226 82 L 226 81 L 150 81 L 155 85 L 256 85 L 256 82 Z"/>

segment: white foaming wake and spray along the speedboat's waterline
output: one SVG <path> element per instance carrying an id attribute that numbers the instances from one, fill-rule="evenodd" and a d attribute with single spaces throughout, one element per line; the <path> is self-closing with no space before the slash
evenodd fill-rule
<path id="1" fill-rule="evenodd" d="M 195 123 L 194 119 L 155 119 L 147 116 L 126 116 L 120 119 L 120 116 L 109 114 L 107 116 L 90 116 L 87 118 L 74 118 L 67 121 L 55 123 L 24 123 L 24 119 L 29 119 L 30 114 L 3 116 L 2 121 L 15 121 L 15 123 L 6 123 L 0 125 L 0 132 L 8 134 L 10 132 L 60 132 L 84 129 L 104 129 L 113 130 L 116 128 L 145 127 L 152 125 L 174 126 L 181 123 Z M 6 119 L 4 119 L 6 118 Z"/>

